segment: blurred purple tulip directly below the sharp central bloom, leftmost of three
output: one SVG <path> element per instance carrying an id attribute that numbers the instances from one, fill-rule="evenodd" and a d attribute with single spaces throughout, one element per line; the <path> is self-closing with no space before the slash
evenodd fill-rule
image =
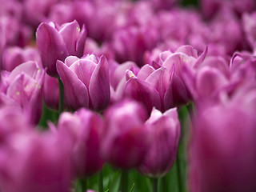
<path id="1" fill-rule="evenodd" d="M 72 145 L 72 160 L 77 176 L 89 176 L 102 169 L 100 140 L 102 119 L 90 110 L 80 109 L 74 114 L 63 113 L 58 131 Z"/>

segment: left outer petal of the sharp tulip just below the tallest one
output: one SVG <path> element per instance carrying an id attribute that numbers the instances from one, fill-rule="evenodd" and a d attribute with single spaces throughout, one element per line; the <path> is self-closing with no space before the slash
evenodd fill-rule
<path id="1" fill-rule="evenodd" d="M 63 82 L 66 104 L 74 110 L 89 107 L 88 90 L 74 71 L 61 61 L 57 61 L 56 68 Z"/>

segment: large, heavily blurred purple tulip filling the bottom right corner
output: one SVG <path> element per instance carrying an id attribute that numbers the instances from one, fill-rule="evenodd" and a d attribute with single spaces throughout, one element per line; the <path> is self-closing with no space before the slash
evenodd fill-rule
<path id="1" fill-rule="evenodd" d="M 255 95 L 254 84 L 239 99 L 201 106 L 189 147 L 191 192 L 256 190 Z"/>

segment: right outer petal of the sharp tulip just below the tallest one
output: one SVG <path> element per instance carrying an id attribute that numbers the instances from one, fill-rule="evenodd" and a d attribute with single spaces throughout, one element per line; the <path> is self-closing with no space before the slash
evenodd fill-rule
<path id="1" fill-rule="evenodd" d="M 103 110 L 110 102 L 110 78 L 108 62 L 102 55 L 89 85 L 90 101 L 94 110 Z"/>

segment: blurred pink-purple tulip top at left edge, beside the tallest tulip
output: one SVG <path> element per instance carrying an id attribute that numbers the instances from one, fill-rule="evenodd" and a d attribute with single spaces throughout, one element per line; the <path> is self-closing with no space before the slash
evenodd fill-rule
<path id="1" fill-rule="evenodd" d="M 35 61 L 41 65 L 38 50 L 32 47 L 26 47 L 24 49 L 18 46 L 8 47 L 2 55 L 2 70 L 12 71 L 16 66 L 28 61 Z"/>

